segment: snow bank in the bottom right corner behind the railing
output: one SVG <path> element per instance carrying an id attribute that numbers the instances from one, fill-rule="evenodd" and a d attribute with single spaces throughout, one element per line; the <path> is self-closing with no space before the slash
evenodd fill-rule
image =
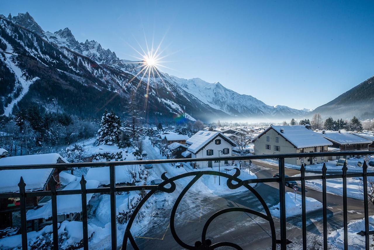
<path id="1" fill-rule="evenodd" d="M 369 216 L 369 230 L 374 230 L 374 216 Z M 348 249 L 365 249 L 365 237 L 358 235 L 360 231 L 365 231 L 365 220 L 356 220 L 348 224 Z M 328 242 L 340 249 L 344 249 L 344 231 L 339 228 L 332 231 L 327 238 Z M 369 244 L 373 244 L 373 237 L 370 235 Z"/>

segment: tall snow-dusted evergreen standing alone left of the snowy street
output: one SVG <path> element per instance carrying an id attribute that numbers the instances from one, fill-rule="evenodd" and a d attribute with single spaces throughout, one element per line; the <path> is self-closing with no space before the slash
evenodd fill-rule
<path id="1" fill-rule="evenodd" d="M 97 132 L 96 144 L 121 146 L 120 132 L 121 121 L 113 111 L 105 110 L 101 118 L 100 129 Z"/>

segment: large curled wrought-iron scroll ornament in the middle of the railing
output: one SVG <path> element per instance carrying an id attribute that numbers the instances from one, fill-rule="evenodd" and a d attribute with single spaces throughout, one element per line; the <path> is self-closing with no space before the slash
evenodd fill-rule
<path id="1" fill-rule="evenodd" d="M 217 216 L 220 216 L 221 214 L 224 214 L 224 213 L 233 212 L 233 211 L 241 211 L 241 212 L 245 212 L 245 213 L 254 214 L 254 215 L 256 215 L 258 217 L 261 217 L 261 218 L 263 218 L 263 219 L 265 219 L 265 220 L 267 220 L 269 222 L 270 229 L 271 229 L 271 237 L 272 237 L 272 249 L 275 250 L 276 249 L 277 240 L 276 240 L 276 234 L 275 234 L 275 225 L 274 225 L 274 221 L 273 221 L 272 215 L 270 213 L 270 210 L 267 207 L 266 202 L 264 201 L 264 199 L 260 196 L 260 194 L 252 186 L 250 186 L 248 184 L 249 183 L 248 180 L 241 180 L 241 179 L 238 178 L 238 176 L 240 175 L 240 170 L 238 168 L 235 168 L 235 170 L 236 171 L 235 171 L 235 173 L 233 175 L 226 174 L 226 173 L 221 173 L 221 172 L 217 172 L 217 171 L 193 171 L 193 172 L 188 172 L 188 173 L 184 173 L 184 174 L 179 174 L 179 175 L 171 177 L 171 178 L 166 177 L 166 173 L 167 172 L 163 173 L 161 175 L 161 178 L 163 179 L 163 182 L 160 183 L 157 186 L 157 189 L 150 189 L 150 192 L 148 192 L 147 195 L 144 196 L 144 198 L 140 201 L 140 203 L 135 208 L 133 214 L 131 215 L 131 217 L 129 219 L 129 222 L 128 222 L 127 226 L 126 226 L 125 234 L 123 235 L 122 249 L 124 249 L 124 250 L 126 249 L 126 247 L 127 247 L 127 241 L 128 240 L 130 241 L 130 243 L 131 243 L 132 247 L 134 247 L 134 249 L 139 249 L 139 247 L 135 243 L 134 237 L 131 234 L 131 226 L 134 223 L 135 217 L 137 216 L 140 208 L 144 205 L 144 203 L 155 192 L 157 192 L 157 190 L 160 190 L 160 191 L 166 192 L 166 193 L 172 193 L 172 192 L 174 192 L 175 189 L 176 189 L 176 185 L 175 185 L 175 182 L 174 182 L 175 180 L 182 179 L 184 177 L 194 176 L 194 178 L 181 191 L 180 195 L 178 196 L 177 200 L 175 201 L 175 203 L 173 205 L 173 208 L 172 208 L 172 211 L 171 211 L 171 216 L 170 216 L 171 234 L 172 234 L 173 238 L 175 239 L 175 241 L 181 247 L 183 247 L 185 249 L 196 249 L 197 250 L 197 249 L 216 249 L 216 248 L 221 247 L 221 246 L 229 246 L 229 247 L 233 247 L 234 249 L 242 249 L 240 246 L 238 246 L 235 243 L 231 243 L 231 242 L 218 242 L 218 243 L 212 244 L 211 240 L 206 239 L 206 231 L 207 231 L 210 223 Z M 175 214 L 176 214 L 178 205 L 180 204 L 183 196 L 187 193 L 187 191 L 191 188 L 191 186 L 193 186 L 193 184 L 196 183 L 197 180 L 199 180 L 203 175 L 213 175 L 213 176 L 226 177 L 228 179 L 227 180 L 227 186 L 230 189 L 237 189 L 237 188 L 239 188 L 241 186 L 244 186 L 251 193 L 253 193 L 256 196 L 256 198 L 261 202 L 261 205 L 263 206 L 264 211 L 265 211 L 266 214 L 260 213 L 260 212 L 255 211 L 255 210 L 251 210 L 249 208 L 240 208 L 240 207 L 226 208 L 226 209 L 217 211 L 211 217 L 209 217 L 209 219 L 206 221 L 206 223 L 204 225 L 204 228 L 203 228 L 203 232 L 202 232 L 202 241 L 196 241 L 195 244 L 194 244 L 194 246 L 191 246 L 191 245 L 188 245 L 187 243 L 184 243 L 178 237 L 177 232 L 175 230 Z M 232 183 L 233 181 L 236 182 L 237 184 L 233 184 Z M 170 184 L 171 187 L 166 188 L 165 185 L 168 185 L 168 184 Z"/>

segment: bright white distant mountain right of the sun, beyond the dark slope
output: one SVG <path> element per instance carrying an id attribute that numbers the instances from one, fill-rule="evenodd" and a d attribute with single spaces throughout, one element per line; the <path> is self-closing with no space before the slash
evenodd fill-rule
<path id="1" fill-rule="evenodd" d="M 304 116 L 305 110 L 291 109 L 287 106 L 269 106 L 251 95 L 238 94 L 225 88 L 221 83 L 208 83 L 200 78 L 183 79 L 169 76 L 178 86 L 196 96 L 214 109 L 223 110 L 233 116 Z"/>

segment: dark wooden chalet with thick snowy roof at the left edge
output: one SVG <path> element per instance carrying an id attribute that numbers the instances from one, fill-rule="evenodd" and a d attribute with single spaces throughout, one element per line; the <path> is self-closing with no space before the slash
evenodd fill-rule
<path id="1" fill-rule="evenodd" d="M 37 164 L 56 164 L 67 163 L 62 156 L 57 153 L 41 154 L 41 155 L 22 155 L 0 158 L 0 166 L 16 166 L 16 165 L 37 165 Z M 56 188 L 61 186 L 59 180 L 59 171 L 55 168 L 44 169 L 24 169 L 24 170 L 0 170 L 0 193 L 18 192 L 18 183 L 21 177 L 26 183 L 26 191 L 48 191 L 49 180 L 54 177 L 57 181 Z M 27 197 L 26 209 L 30 209 L 39 205 L 44 197 Z M 47 197 L 45 197 L 47 198 Z M 13 226 L 14 212 L 19 211 L 19 198 L 0 199 L 0 227 Z M 28 229 L 36 230 L 37 225 L 28 222 Z"/>

